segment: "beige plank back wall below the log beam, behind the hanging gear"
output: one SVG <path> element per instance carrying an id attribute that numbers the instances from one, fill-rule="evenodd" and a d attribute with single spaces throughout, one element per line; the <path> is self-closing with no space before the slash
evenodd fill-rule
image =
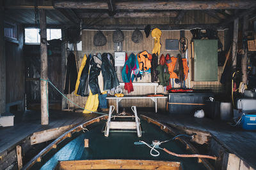
<path id="1" fill-rule="evenodd" d="M 83 47 L 82 47 L 82 52 L 80 52 L 79 57 L 80 60 L 79 62 L 81 63 L 81 60 L 83 59 L 84 53 L 88 55 L 89 53 L 104 53 L 104 52 L 109 52 L 114 55 L 114 44 L 112 41 L 112 36 L 113 36 L 113 31 L 102 31 L 103 34 L 107 38 L 107 43 L 104 46 L 94 46 L 93 45 L 93 36 L 97 31 L 88 31 L 84 30 L 83 31 L 83 36 L 82 36 L 82 42 L 83 42 Z M 131 53 L 138 53 L 142 52 L 144 50 L 147 50 L 147 52 L 152 53 L 152 49 L 154 47 L 154 39 L 152 36 L 148 36 L 146 38 L 144 31 L 143 33 L 143 41 L 141 43 L 134 43 L 131 40 L 132 36 L 132 31 L 122 31 L 124 32 L 125 39 L 123 41 L 123 51 L 128 53 L 128 56 Z M 224 31 L 219 31 L 218 34 L 220 35 L 221 43 L 224 41 Z M 188 38 L 188 41 L 190 43 L 192 34 L 190 31 L 185 31 L 185 36 Z M 170 56 L 177 57 L 177 53 L 179 53 L 179 50 L 165 50 L 165 39 L 179 39 L 180 38 L 180 31 L 162 31 L 162 36 L 161 36 L 161 54 L 163 53 L 166 55 L 167 53 L 170 54 Z M 191 45 L 189 44 L 188 46 L 188 57 L 189 57 L 189 66 L 191 66 Z M 159 56 L 160 57 L 160 56 Z M 178 64 L 178 63 L 177 63 Z M 118 79 L 120 82 L 122 82 L 122 76 L 121 76 L 121 71 L 122 67 L 117 67 L 116 74 L 118 75 Z M 189 67 L 189 73 L 190 73 L 190 80 L 191 80 L 191 67 Z M 190 81 L 191 87 L 193 85 L 220 85 L 220 76 L 222 73 L 222 67 L 218 68 L 218 81 Z M 150 74 L 145 74 L 145 76 L 142 78 L 142 80 L 138 80 L 138 82 L 148 82 L 150 83 L 151 81 L 151 76 Z M 136 81 L 134 81 L 136 82 Z M 174 87 L 180 87 L 179 84 L 174 83 Z M 186 87 L 189 87 L 189 82 L 188 80 L 186 81 Z M 153 94 L 154 93 L 154 87 L 134 87 L 134 92 L 131 92 L 131 94 L 127 94 L 127 91 L 124 90 L 124 87 L 122 87 L 124 94 L 125 95 L 145 95 L 145 94 Z M 157 87 L 157 93 L 161 94 L 168 94 L 167 92 L 164 92 L 164 89 L 162 86 Z M 86 97 L 75 97 L 74 94 L 68 95 L 72 101 L 75 101 L 76 104 L 79 104 L 79 106 L 84 106 L 86 103 Z M 139 103 L 139 104 L 138 104 Z M 109 104 L 115 105 L 115 101 L 109 101 Z M 158 102 L 159 108 L 164 109 L 166 107 L 166 100 L 161 99 Z M 145 99 L 137 99 L 137 100 L 122 100 L 120 102 L 120 106 L 132 106 L 132 105 L 140 105 L 143 107 L 154 107 L 154 102 L 150 100 L 145 100 Z M 73 106 L 70 104 L 70 106 Z"/>

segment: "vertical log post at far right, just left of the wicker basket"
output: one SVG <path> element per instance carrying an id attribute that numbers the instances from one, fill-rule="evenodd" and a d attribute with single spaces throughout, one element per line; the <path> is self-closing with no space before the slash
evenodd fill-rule
<path id="1" fill-rule="evenodd" d="M 247 31 L 248 31 L 248 15 L 245 15 L 244 18 L 243 18 L 243 37 L 246 38 L 246 36 L 248 36 L 247 34 Z M 247 43 L 246 41 L 243 41 L 243 43 Z M 242 76 L 242 80 L 243 80 L 243 83 L 247 83 L 247 48 L 244 48 L 244 56 L 242 57 L 242 73 L 243 73 L 243 76 Z"/>

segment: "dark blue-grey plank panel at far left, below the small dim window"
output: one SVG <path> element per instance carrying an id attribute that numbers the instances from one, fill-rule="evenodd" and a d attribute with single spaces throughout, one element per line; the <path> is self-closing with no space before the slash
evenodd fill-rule
<path id="1" fill-rule="evenodd" d="M 19 44 L 5 41 L 6 56 L 6 104 L 24 101 L 23 31 L 19 27 Z"/>

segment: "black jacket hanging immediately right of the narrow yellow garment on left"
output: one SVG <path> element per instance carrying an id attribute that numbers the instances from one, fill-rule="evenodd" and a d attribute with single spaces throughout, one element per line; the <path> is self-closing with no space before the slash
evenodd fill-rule
<path id="1" fill-rule="evenodd" d="M 80 76 L 80 83 L 77 89 L 77 95 L 80 96 L 88 96 L 89 95 L 89 87 L 88 87 L 88 73 L 89 73 L 89 66 L 90 66 L 90 59 L 91 55 L 86 59 L 86 64 L 83 68 L 83 71 Z"/>

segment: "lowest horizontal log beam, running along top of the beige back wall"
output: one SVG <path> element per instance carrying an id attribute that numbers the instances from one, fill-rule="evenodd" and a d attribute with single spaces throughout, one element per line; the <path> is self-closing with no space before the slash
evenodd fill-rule
<path id="1" fill-rule="evenodd" d="M 83 29 L 95 29 L 95 30 L 135 30 L 136 28 L 140 30 L 144 30 L 147 24 L 142 25 L 90 25 L 90 26 L 83 26 Z M 200 29 L 217 29 L 223 30 L 227 29 L 228 27 L 221 26 L 218 24 L 159 24 L 159 25 L 151 25 L 152 28 L 159 28 L 161 30 L 190 30 L 195 28 Z"/>

